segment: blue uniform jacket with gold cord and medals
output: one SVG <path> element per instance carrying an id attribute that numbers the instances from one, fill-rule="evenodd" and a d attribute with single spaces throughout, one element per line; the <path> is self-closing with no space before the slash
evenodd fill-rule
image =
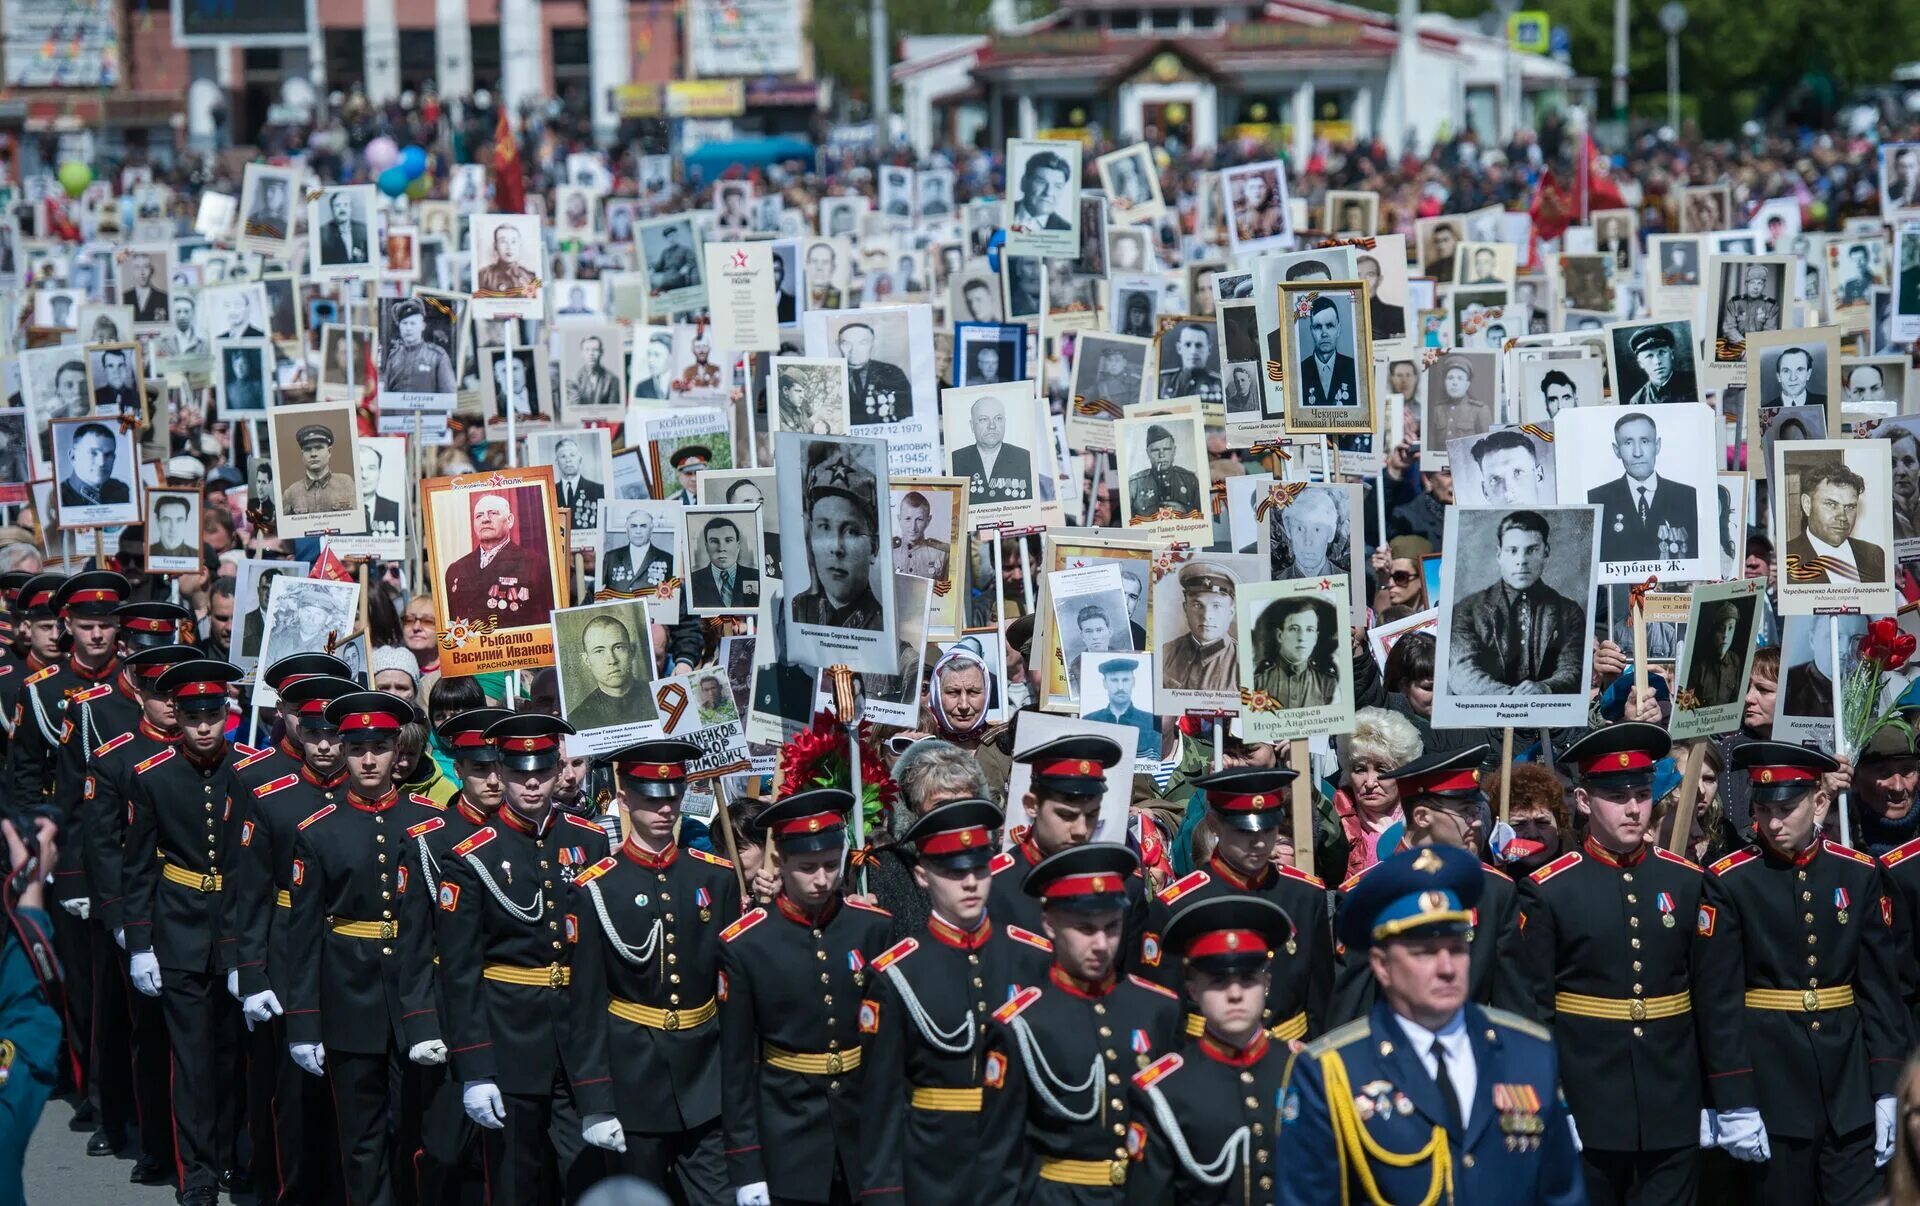
<path id="1" fill-rule="evenodd" d="M 1473 1110 L 1465 1135 L 1448 1139 L 1453 1200 L 1586 1202 L 1586 1177 L 1559 1095 L 1559 1060 L 1546 1027 L 1496 1008 L 1467 1004 L 1473 1043 Z M 1436 1143 L 1448 1125 L 1440 1085 L 1407 1031 L 1384 1002 L 1308 1045 L 1286 1070 L 1281 1095 L 1281 1139 L 1273 1162 L 1281 1168 L 1279 1206 L 1380 1200 L 1421 1202 L 1432 1191 L 1432 1162 L 1394 1168 L 1367 1158 L 1379 1198 L 1367 1198 L 1354 1154 L 1340 1152 L 1331 1110 L 1357 1118 L 1367 1137 L 1396 1156 Z M 1676 1135 L 1692 1139 L 1699 1120 Z"/>

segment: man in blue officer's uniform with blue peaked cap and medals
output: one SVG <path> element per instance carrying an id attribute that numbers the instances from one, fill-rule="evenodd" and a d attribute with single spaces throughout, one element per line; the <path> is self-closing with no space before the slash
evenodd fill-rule
<path id="1" fill-rule="evenodd" d="M 1281 1206 L 1586 1202 L 1553 1039 L 1469 1001 L 1488 883 L 1469 851 L 1428 845 L 1377 864 L 1340 903 L 1340 941 L 1367 953 L 1380 991 L 1286 1070 Z"/>

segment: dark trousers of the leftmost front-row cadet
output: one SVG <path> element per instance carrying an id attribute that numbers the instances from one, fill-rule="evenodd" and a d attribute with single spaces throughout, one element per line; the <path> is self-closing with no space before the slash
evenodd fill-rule
<path id="1" fill-rule="evenodd" d="M 236 1006 L 225 981 L 217 972 L 159 972 L 159 1004 L 173 1039 L 173 1143 L 182 1193 L 219 1189 L 221 1166 L 240 1131 L 232 1095 Z"/>

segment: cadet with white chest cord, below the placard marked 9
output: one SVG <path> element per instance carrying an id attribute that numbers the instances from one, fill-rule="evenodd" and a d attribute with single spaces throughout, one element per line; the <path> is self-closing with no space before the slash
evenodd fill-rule
<path id="1" fill-rule="evenodd" d="M 566 1064 L 586 1139 L 620 1171 L 730 1196 L 720 1139 L 720 931 L 739 918 L 726 858 L 680 847 L 691 741 L 641 741 L 607 759 L 628 835 L 574 876 L 574 1025 Z"/>

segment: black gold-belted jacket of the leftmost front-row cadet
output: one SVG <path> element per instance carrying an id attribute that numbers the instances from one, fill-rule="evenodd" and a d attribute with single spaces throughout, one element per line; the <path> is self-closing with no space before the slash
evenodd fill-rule
<path id="1" fill-rule="evenodd" d="M 169 972 L 225 972 L 234 953 L 221 941 L 221 897 L 234 887 L 246 824 L 232 753 L 223 745 L 198 764 L 175 741 L 144 745 L 157 749 L 132 764 L 127 797 L 127 951 L 152 951 Z"/>

